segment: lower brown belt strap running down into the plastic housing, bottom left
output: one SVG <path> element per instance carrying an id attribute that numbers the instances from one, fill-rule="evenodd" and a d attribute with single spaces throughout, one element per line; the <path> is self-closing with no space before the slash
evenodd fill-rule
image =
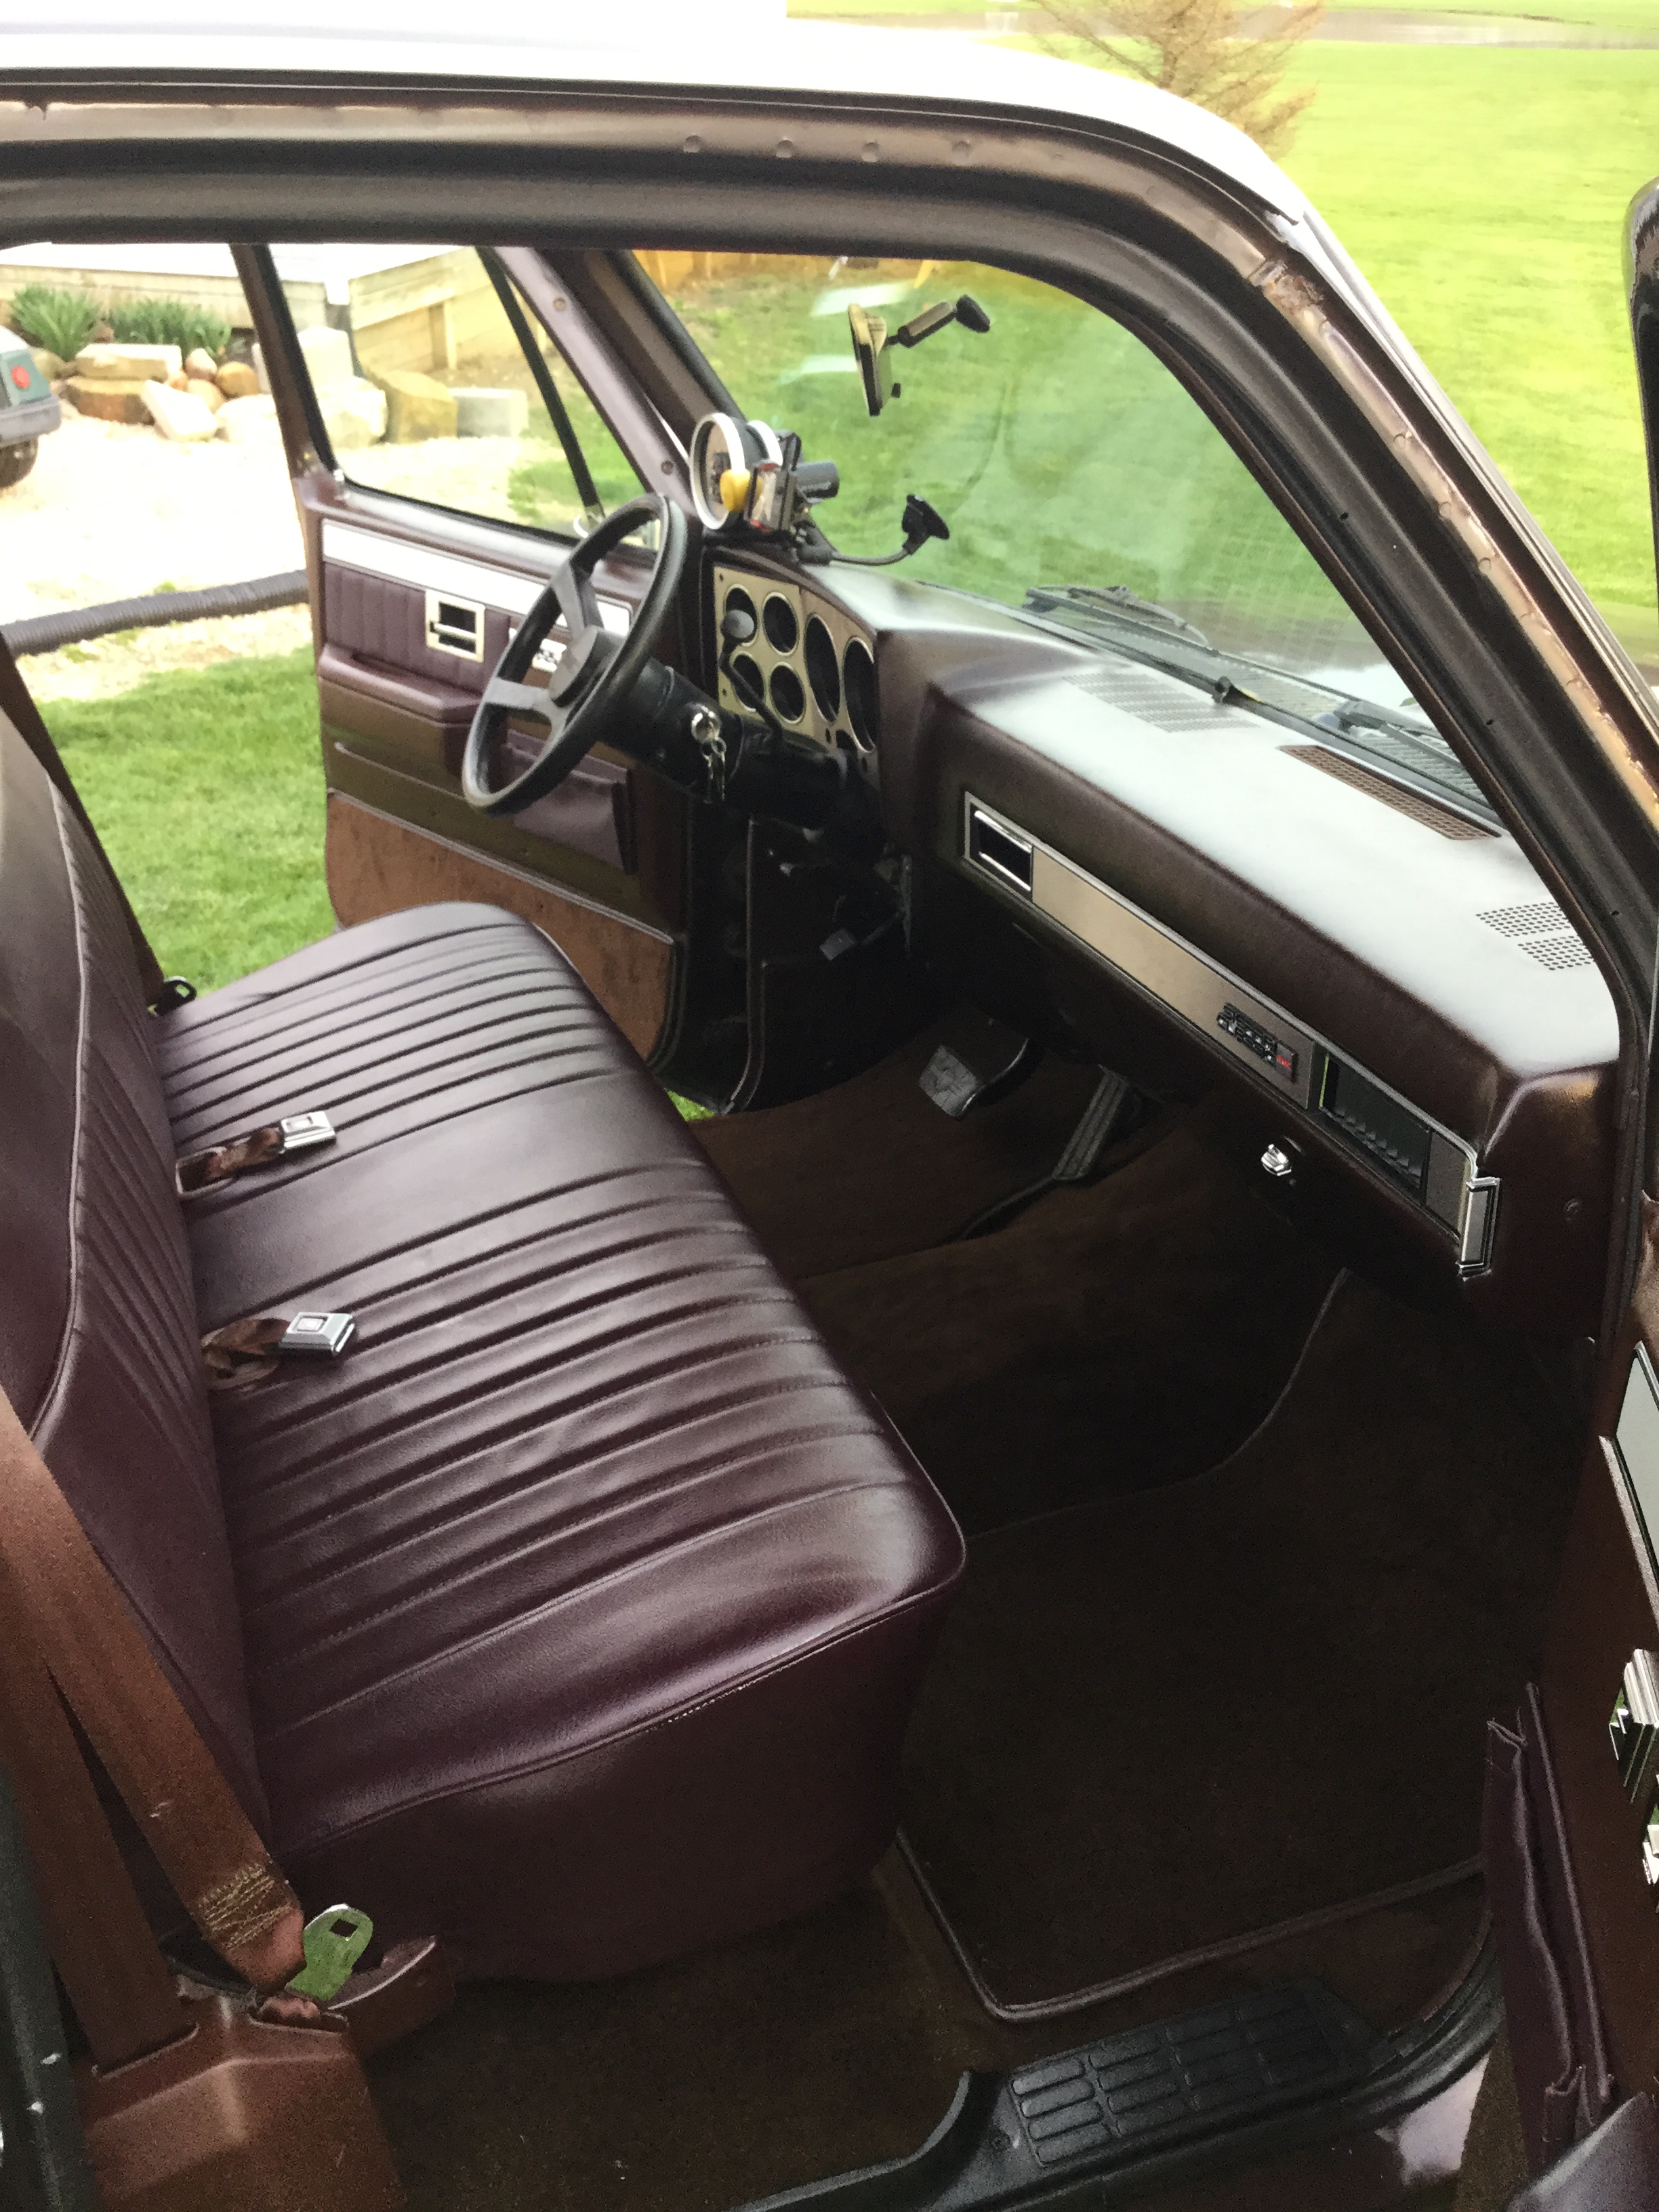
<path id="1" fill-rule="evenodd" d="M 93 2062 L 124 2066 L 170 2044 L 188 2022 L 4 1564 L 0 1648 L 0 1763 L 13 1781 L 46 1947 Z"/>

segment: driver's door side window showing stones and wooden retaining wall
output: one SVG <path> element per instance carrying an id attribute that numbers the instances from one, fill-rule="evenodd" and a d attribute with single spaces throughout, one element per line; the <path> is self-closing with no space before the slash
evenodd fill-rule
<path id="1" fill-rule="evenodd" d="M 639 478 L 504 270 L 471 246 L 276 246 L 352 484 L 571 535 Z"/>

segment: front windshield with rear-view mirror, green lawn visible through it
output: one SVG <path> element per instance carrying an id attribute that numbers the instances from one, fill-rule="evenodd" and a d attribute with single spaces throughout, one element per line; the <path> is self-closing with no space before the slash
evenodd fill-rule
<path id="1" fill-rule="evenodd" d="M 637 259 L 743 414 L 796 431 L 807 460 L 838 462 L 841 493 L 818 524 L 843 553 L 896 551 L 916 491 L 951 535 L 925 544 L 907 575 L 1040 613 L 1093 644 L 1104 641 L 1095 595 L 1150 602 L 1221 653 L 1411 708 L 1221 431 L 1097 307 L 978 263 Z M 847 307 L 894 330 L 960 294 L 984 307 L 989 332 L 951 323 L 891 349 L 898 392 L 872 418 Z"/>

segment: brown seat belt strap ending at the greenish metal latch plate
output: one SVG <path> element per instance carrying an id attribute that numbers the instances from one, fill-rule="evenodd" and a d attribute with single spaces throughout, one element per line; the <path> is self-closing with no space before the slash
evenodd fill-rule
<path id="1" fill-rule="evenodd" d="M 254 1989 L 283 1989 L 305 1964 L 299 1898 L 2 1391 L 0 1559 L 64 1703 L 190 1918 Z"/>

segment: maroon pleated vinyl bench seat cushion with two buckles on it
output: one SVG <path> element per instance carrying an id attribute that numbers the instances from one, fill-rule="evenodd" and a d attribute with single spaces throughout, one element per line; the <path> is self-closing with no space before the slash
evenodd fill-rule
<path id="1" fill-rule="evenodd" d="M 215 1398 L 254 1743 L 314 1905 L 613 1973 L 887 1845 L 949 1511 L 526 922 L 392 916 L 168 1015 L 204 1327 L 356 1314 Z"/>

